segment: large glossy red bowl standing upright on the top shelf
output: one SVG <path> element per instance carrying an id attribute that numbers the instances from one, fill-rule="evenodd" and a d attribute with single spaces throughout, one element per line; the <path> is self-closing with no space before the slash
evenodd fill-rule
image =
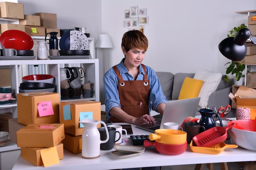
<path id="1" fill-rule="evenodd" d="M 6 49 L 31 50 L 34 46 L 31 36 L 19 30 L 7 30 L 0 35 L 0 42 Z"/>

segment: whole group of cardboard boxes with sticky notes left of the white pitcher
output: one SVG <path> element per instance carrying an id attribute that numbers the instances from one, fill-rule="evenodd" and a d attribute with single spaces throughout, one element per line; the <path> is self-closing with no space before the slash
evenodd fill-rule
<path id="1" fill-rule="evenodd" d="M 54 162 L 58 163 L 63 159 L 63 147 L 72 153 L 82 152 L 84 127 L 79 121 L 101 120 L 100 102 L 59 99 L 59 94 L 52 92 L 17 94 L 18 118 L 9 120 L 10 138 L 21 148 L 21 157 L 35 166 L 47 165 L 47 153 L 51 160 L 58 157 Z"/>

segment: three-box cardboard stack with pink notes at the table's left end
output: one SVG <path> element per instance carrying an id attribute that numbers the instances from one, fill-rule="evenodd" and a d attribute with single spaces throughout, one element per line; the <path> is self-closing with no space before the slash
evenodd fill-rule
<path id="1" fill-rule="evenodd" d="M 59 123 L 59 94 L 43 91 L 17 94 L 17 111 L 18 125 L 14 127 L 20 129 L 14 128 L 14 133 L 21 157 L 35 166 L 49 165 L 45 161 L 49 154 L 56 160 L 50 161 L 50 165 L 63 159 L 61 141 L 65 135 L 64 125 Z"/>

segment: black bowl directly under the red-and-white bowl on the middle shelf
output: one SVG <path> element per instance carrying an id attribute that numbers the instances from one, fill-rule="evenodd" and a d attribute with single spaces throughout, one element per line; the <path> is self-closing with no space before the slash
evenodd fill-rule
<path id="1" fill-rule="evenodd" d="M 54 88 L 54 84 L 41 83 L 41 82 L 20 83 L 20 89 L 22 90 L 37 90 L 37 89 L 46 89 L 46 88 Z"/>

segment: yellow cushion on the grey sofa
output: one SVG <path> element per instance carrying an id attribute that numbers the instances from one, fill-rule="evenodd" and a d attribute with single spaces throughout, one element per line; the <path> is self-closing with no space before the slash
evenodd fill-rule
<path id="1" fill-rule="evenodd" d="M 202 80 L 186 77 L 180 89 L 178 100 L 198 97 L 202 84 Z"/>

